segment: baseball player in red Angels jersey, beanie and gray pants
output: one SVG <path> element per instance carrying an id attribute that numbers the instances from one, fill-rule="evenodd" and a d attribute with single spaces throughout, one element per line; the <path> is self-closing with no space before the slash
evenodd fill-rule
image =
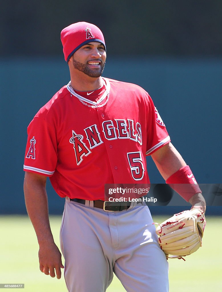
<path id="1" fill-rule="evenodd" d="M 133 200 L 110 204 L 105 185 L 149 183 L 145 157 L 151 155 L 167 183 L 189 184 L 189 192 L 177 191 L 205 212 L 201 191 L 149 94 L 101 76 L 106 45 L 100 29 L 74 23 L 62 30 L 61 41 L 71 80 L 31 121 L 25 152 L 25 203 L 40 270 L 59 279 L 65 266 L 70 292 L 106 291 L 113 272 L 126 291 L 169 291 L 168 262 L 148 206 Z M 47 177 L 65 198 L 64 266 L 50 230 Z"/>

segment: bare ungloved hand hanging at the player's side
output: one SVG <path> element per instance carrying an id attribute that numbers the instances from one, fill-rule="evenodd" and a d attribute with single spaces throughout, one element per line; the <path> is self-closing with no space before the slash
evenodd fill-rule
<path id="1" fill-rule="evenodd" d="M 60 279 L 61 268 L 64 268 L 62 256 L 55 243 L 39 246 L 40 271 L 46 275 L 50 275 L 52 278 L 55 277 L 56 272 L 57 279 Z"/>

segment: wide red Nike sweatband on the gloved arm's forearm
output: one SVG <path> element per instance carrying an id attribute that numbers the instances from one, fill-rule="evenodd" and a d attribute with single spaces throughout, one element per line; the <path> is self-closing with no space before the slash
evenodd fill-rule
<path id="1" fill-rule="evenodd" d="M 166 180 L 166 183 L 187 202 L 195 194 L 201 193 L 200 187 L 188 165 L 183 166 L 172 174 Z"/>

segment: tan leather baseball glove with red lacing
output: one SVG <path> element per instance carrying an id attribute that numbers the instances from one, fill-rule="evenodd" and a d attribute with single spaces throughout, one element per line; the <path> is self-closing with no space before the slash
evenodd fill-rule
<path id="1" fill-rule="evenodd" d="M 156 233 L 166 257 L 181 259 L 197 251 L 202 246 L 205 224 L 204 213 L 197 208 L 174 214 L 158 224 Z"/>

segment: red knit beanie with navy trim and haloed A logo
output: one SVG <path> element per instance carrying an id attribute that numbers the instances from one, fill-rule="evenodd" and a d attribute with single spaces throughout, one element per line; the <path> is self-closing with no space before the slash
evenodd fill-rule
<path id="1" fill-rule="evenodd" d="M 61 41 L 67 63 L 75 51 L 87 43 L 98 41 L 105 47 L 105 40 L 101 30 L 96 25 L 88 22 L 77 22 L 65 27 L 61 31 Z"/>

